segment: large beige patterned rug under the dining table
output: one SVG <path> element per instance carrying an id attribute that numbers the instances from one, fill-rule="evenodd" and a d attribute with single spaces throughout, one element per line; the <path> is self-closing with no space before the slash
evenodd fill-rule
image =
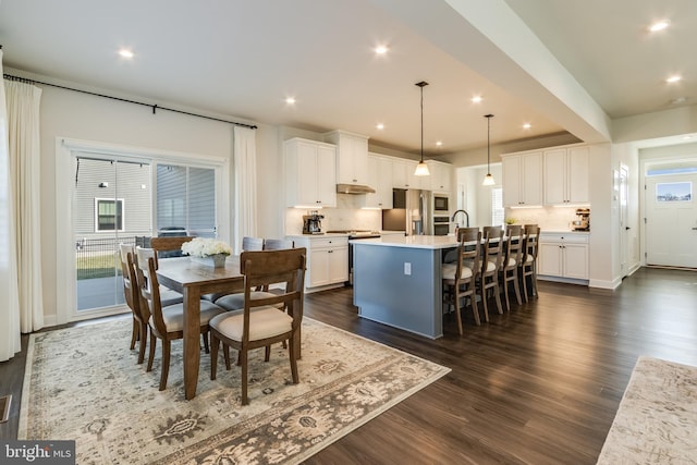
<path id="1" fill-rule="evenodd" d="M 159 348 L 146 372 L 130 340 L 130 320 L 33 334 L 19 439 L 75 440 L 78 464 L 299 463 L 450 371 L 305 318 L 299 384 L 280 344 L 268 363 L 254 351 L 243 407 L 240 367 L 225 370 L 222 354 L 211 381 L 201 352 L 185 401 L 181 341 L 160 392 Z"/>

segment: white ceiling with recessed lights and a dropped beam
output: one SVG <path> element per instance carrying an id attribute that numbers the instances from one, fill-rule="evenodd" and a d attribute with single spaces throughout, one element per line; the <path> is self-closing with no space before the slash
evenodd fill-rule
<path id="1" fill-rule="evenodd" d="M 492 144 L 596 142 L 697 98 L 695 0 L 0 0 L 0 44 L 21 75 L 414 154 L 427 81 L 427 157 L 486 146 L 487 113 Z"/>

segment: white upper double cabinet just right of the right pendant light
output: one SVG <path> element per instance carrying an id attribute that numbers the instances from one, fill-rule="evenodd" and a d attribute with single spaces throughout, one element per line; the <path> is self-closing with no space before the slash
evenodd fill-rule
<path id="1" fill-rule="evenodd" d="M 542 152 L 501 156 L 503 206 L 542 205 Z"/>

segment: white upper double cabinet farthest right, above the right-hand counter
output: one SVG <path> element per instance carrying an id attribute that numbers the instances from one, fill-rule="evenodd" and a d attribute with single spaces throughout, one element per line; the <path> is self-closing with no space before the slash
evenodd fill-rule
<path id="1" fill-rule="evenodd" d="M 545 205 L 588 204 L 589 148 L 545 150 Z"/>

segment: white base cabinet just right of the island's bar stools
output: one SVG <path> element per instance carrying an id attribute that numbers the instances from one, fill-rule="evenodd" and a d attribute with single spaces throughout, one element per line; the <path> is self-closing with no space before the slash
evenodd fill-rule
<path id="1" fill-rule="evenodd" d="M 588 235 L 540 234 L 538 276 L 588 280 Z"/>

